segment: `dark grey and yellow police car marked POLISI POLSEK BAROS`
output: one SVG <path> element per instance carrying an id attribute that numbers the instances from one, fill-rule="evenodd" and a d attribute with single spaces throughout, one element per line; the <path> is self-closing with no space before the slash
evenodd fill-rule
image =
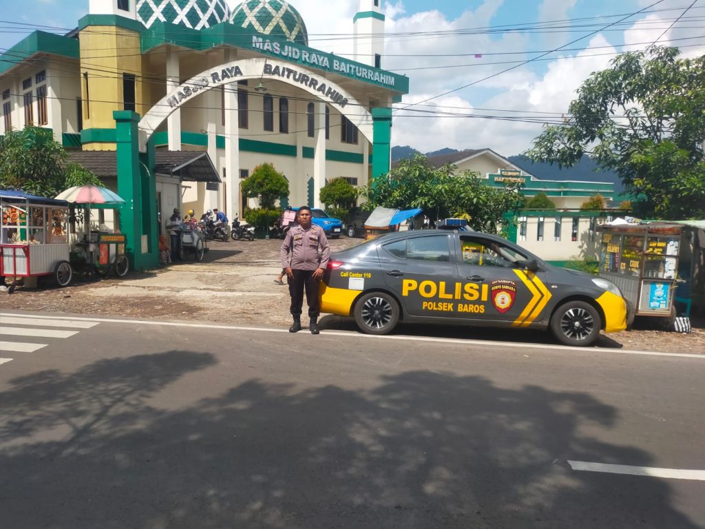
<path id="1" fill-rule="evenodd" d="M 398 322 L 550 329 L 589 346 L 626 328 L 627 305 L 606 279 L 554 267 L 505 239 L 437 229 L 388 233 L 331 255 L 321 312 L 353 316 L 368 334 Z"/>

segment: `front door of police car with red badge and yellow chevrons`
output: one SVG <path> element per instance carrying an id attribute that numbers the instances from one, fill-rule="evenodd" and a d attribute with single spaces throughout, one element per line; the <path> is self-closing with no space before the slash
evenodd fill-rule
<path id="1" fill-rule="evenodd" d="M 545 286 L 546 274 L 526 270 L 527 254 L 520 250 L 482 234 L 456 234 L 458 274 L 467 292 L 466 303 L 458 305 L 458 317 L 512 327 L 527 327 L 548 317 L 551 292 Z"/>

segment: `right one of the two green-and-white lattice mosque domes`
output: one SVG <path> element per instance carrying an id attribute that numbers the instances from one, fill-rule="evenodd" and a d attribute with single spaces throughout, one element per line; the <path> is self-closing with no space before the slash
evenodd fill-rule
<path id="1" fill-rule="evenodd" d="M 308 46 L 304 20 L 291 4 L 283 0 L 245 0 L 233 9 L 230 23 Z"/>

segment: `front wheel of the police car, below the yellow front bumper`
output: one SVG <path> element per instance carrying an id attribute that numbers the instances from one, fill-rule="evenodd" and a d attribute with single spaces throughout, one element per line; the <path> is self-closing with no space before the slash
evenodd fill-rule
<path id="1" fill-rule="evenodd" d="M 601 327 L 599 313 L 584 301 L 563 303 L 551 316 L 551 333 L 566 346 L 591 346 L 600 335 Z"/>

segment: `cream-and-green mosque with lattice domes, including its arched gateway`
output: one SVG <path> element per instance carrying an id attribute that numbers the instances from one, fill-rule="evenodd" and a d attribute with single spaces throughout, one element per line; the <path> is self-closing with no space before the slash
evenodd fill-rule
<path id="1" fill-rule="evenodd" d="M 0 134 L 49 128 L 129 195 L 137 254 L 154 247 L 152 203 L 162 223 L 176 206 L 232 218 L 263 162 L 289 181 L 283 205 L 319 206 L 326 181 L 388 171 L 391 107 L 409 91 L 381 68 L 381 0 L 359 0 L 351 29 L 352 58 L 310 47 L 285 0 L 90 0 L 75 30 L 0 56 Z"/>

